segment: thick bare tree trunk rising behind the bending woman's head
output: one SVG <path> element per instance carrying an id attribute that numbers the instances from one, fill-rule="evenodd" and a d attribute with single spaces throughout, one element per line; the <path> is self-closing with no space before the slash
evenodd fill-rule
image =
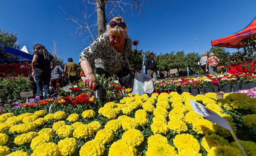
<path id="1" fill-rule="evenodd" d="M 97 7 L 97 37 L 106 30 L 105 0 L 96 0 Z"/>

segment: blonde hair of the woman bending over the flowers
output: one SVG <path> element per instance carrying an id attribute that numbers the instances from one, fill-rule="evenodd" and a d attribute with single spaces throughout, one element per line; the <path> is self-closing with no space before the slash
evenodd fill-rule
<path id="1" fill-rule="evenodd" d="M 121 22 L 125 23 L 125 21 L 123 20 L 123 18 L 121 16 L 120 17 L 114 17 L 111 21 L 115 21 L 117 23 L 121 23 Z M 110 25 L 108 24 L 105 33 L 106 33 L 107 36 L 109 34 L 118 34 L 118 35 L 122 34 L 122 36 L 127 39 L 128 38 L 128 35 L 127 35 L 128 29 L 127 29 L 127 24 L 126 23 L 125 23 L 125 25 L 126 25 L 125 29 L 123 29 L 119 26 L 115 26 L 115 28 L 111 28 Z"/>

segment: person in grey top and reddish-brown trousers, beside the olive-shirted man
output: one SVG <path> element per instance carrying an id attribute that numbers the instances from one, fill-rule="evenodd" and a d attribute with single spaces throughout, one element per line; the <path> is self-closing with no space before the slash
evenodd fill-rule
<path id="1" fill-rule="evenodd" d="M 51 62 L 51 68 L 52 67 L 53 67 L 53 62 Z M 64 79 L 66 79 L 66 73 L 59 65 L 57 65 L 51 72 L 51 85 L 54 88 L 54 90 L 57 90 L 60 87 L 62 87 L 62 77 L 61 77 L 62 74 L 64 75 Z"/>

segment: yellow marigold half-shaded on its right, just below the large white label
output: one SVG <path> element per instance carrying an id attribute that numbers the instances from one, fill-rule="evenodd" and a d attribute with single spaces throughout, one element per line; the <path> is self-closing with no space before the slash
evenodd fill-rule
<path id="1" fill-rule="evenodd" d="M 193 130 L 197 134 L 213 134 L 217 132 L 215 125 L 207 119 L 197 119 L 192 123 Z"/>

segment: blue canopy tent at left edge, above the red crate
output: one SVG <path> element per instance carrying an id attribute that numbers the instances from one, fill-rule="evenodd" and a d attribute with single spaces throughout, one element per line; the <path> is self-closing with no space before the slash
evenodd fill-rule
<path id="1" fill-rule="evenodd" d="M 0 63 L 5 63 L 6 61 L 8 62 L 13 62 L 13 61 L 19 61 L 19 62 L 32 62 L 33 55 L 28 54 L 26 52 L 23 52 L 21 50 L 12 48 L 12 47 L 7 47 L 4 45 L 5 50 L 3 52 L 8 52 L 13 54 L 14 58 L 6 58 L 4 56 L 0 56 Z"/>

